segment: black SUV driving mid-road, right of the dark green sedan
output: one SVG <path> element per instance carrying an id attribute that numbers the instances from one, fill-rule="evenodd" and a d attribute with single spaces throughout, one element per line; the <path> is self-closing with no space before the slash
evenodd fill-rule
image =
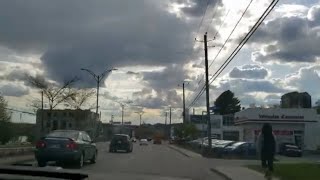
<path id="1" fill-rule="evenodd" d="M 126 134 L 115 134 L 112 137 L 109 146 L 109 152 L 117 152 L 118 150 L 124 150 L 126 152 L 132 152 L 133 146 L 130 137 Z"/>

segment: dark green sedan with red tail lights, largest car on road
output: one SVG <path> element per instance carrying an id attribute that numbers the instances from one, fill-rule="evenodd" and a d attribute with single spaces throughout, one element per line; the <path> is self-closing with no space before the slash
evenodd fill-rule
<path id="1" fill-rule="evenodd" d="M 84 161 L 96 162 L 98 150 L 96 144 L 84 131 L 56 130 L 42 137 L 36 143 L 35 158 L 40 167 L 48 161 L 59 163 L 72 162 L 78 168 Z"/>

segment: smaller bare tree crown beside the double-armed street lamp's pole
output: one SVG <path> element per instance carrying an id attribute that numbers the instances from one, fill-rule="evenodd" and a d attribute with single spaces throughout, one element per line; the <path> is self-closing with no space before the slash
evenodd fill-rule
<path id="1" fill-rule="evenodd" d="M 75 109 L 81 109 L 82 105 L 95 94 L 93 89 L 79 89 L 75 91 L 72 96 L 66 99 L 66 102 Z"/>

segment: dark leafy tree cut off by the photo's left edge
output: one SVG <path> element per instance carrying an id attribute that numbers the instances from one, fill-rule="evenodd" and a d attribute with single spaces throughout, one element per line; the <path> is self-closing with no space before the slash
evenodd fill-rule
<path id="1" fill-rule="evenodd" d="M 10 114 L 6 110 L 7 101 L 0 95 L 0 143 L 5 144 L 13 137 Z"/>

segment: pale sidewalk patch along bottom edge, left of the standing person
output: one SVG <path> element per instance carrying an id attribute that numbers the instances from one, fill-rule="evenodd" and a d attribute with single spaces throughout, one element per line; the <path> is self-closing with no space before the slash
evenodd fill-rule
<path id="1" fill-rule="evenodd" d="M 241 166 L 220 166 L 212 168 L 211 171 L 220 174 L 227 180 L 265 180 L 263 174 Z M 278 178 L 272 178 L 278 180 Z"/>

